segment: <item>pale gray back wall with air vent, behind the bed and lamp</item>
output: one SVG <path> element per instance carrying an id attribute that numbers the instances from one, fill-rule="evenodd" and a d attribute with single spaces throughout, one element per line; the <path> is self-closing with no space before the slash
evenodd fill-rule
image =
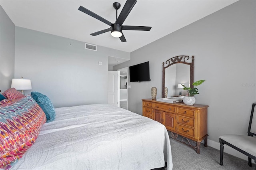
<path id="1" fill-rule="evenodd" d="M 26 28 L 16 27 L 15 34 L 15 78 L 31 79 L 31 91 L 47 95 L 54 107 L 107 103 L 108 56 L 130 57 L 102 46 L 88 50 L 84 42 Z"/>

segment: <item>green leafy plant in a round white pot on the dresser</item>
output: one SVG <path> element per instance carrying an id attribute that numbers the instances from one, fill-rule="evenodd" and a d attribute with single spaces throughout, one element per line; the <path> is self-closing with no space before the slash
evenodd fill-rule
<path id="1" fill-rule="evenodd" d="M 186 104 L 186 105 L 194 105 L 196 103 L 196 99 L 194 97 L 194 95 L 197 95 L 199 94 L 198 93 L 198 88 L 196 88 L 198 85 L 204 83 L 206 80 L 198 80 L 196 82 L 194 82 L 192 85 L 195 86 L 193 88 L 190 88 L 190 87 L 186 87 L 184 85 L 182 85 L 184 88 L 183 90 L 186 90 L 188 92 L 188 96 L 185 96 L 183 98 L 183 102 Z"/>

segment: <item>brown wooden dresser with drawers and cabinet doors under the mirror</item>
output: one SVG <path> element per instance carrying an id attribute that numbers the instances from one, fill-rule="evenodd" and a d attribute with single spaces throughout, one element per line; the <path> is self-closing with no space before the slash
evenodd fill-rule
<path id="1" fill-rule="evenodd" d="M 158 121 L 165 125 L 166 129 L 173 132 L 172 137 L 177 134 L 196 142 L 193 146 L 189 140 L 188 145 L 200 154 L 200 143 L 204 140 L 207 147 L 207 105 L 194 104 L 192 106 L 184 103 L 164 103 L 152 99 L 142 99 L 143 116 Z M 182 141 L 184 139 L 182 138 Z"/>

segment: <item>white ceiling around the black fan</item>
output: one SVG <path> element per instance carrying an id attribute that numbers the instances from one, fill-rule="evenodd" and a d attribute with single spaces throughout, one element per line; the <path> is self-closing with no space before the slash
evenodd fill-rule
<path id="1" fill-rule="evenodd" d="M 127 42 L 123 43 L 110 32 L 91 36 L 109 26 L 78 8 L 83 6 L 114 23 L 116 12 L 112 4 L 121 4 L 119 15 L 126 0 L 0 0 L 0 4 L 15 26 L 132 52 L 236 1 L 138 0 L 123 25 L 152 26 L 152 29 L 124 30 Z"/>

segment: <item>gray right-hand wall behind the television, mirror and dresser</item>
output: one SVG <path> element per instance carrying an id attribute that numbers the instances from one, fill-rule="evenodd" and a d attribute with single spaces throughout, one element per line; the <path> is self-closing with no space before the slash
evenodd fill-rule
<path id="1" fill-rule="evenodd" d="M 209 105 L 208 139 L 221 134 L 247 134 L 256 102 L 256 1 L 241 0 L 131 53 L 120 69 L 150 61 L 149 82 L 129 83 L 129 110 L 142 115 L 151 87 L 162 96 L 162 62 L 177 55 L 195 56 L 196 103 Z M 209 144 L 209 143 L 208 143 Z M 219 146 L 218 146 L 219 147 Z"/>

